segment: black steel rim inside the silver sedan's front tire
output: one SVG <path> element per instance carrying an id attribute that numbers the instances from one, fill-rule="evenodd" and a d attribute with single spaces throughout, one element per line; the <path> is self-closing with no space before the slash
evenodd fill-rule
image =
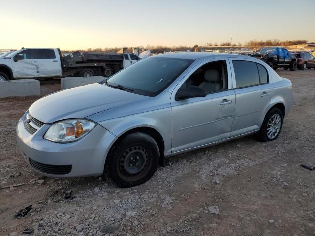
<path id="1" fill-rule="evenodd" d="M 117 162 L 117 172 L 126 181 L 134 181 L 148 173 L 150 160 L 146 148 L 141 145 L 130 146 L 121 153 Z"/>

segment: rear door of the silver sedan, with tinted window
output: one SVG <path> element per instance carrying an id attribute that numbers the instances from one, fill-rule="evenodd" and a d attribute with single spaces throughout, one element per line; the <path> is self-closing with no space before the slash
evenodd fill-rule
<path id="1" fill-rule="evenodd" d="M 235 137 L 259 130 L 274 88 L 263 64 L 242 58 L 229 60 L 236 94 L 231 130 L 231 137 Z"/>

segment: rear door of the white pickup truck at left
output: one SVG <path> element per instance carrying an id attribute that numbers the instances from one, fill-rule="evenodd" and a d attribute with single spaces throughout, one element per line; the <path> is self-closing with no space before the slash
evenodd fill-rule
<path id="1" fill-rule="evenodd" d="M 55 54 L 54 49 L 37 49 L 38 50 L 38 76 L 54 77 L 61 76 L 61 64 L 59 55 Z"/>

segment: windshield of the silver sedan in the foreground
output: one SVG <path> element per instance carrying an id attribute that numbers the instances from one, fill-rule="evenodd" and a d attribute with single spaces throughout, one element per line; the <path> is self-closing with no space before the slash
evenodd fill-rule
<path id="1" fill-rule="evenodd" d="M 134 93 L 156 96 L 166 89 L 193 60 L 152 57 L 142 59 L 110 77 L 113 86 L 132 89 Z M 129 90 L 130 91 L 130 90 Z"/>

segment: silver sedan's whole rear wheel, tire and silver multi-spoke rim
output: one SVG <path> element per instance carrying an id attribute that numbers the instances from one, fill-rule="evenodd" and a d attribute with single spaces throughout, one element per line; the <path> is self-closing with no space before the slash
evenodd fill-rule
<path id="1" fill-rule="evenodd" d="M 283 115 L 279 108 L 269 110 L 258 132 L 258 139 L 262 142 L 278 138 L 283 122 Z"/>

